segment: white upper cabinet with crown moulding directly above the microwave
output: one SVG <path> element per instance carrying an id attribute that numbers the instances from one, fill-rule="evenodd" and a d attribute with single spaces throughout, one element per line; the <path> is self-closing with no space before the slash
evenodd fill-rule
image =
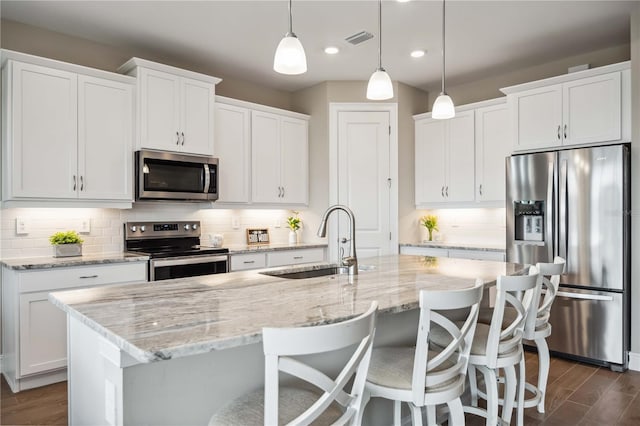
<path id="1" fill-rule="evenodd" d="M 118 71 L 138 80 L 138 148 L 213 155 L 219 78 L 139 58 Z"/>

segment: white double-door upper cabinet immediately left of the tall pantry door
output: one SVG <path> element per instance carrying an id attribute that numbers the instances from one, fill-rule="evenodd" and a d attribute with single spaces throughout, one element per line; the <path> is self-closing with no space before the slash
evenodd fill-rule
<path id="1" fill-rule="evenodd" d="M 308 121 L 251 112 L 251 174 L 254 203 L 309 202 Z"/>

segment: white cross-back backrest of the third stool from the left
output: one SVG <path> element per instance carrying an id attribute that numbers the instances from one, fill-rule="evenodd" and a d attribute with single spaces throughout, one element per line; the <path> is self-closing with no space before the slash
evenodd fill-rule
<path id="1" fill-rule="evenodd" d="M 514 353 L 522 344 L 526 323 L 535 322 L 541 286 L 542 277 L 534 266 L 529 268 L 529 275 L 498 277 L 496 301 L 486 347 L 489 368 L 496 368 L 498 357 Z M 503 323 L 507 305 L 513 308 L 517 315 L 510 322 Z"/>

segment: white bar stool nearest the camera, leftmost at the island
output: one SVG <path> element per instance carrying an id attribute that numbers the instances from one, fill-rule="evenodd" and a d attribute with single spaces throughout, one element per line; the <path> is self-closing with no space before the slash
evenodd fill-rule
<path id="1" fill-rule="evenodd" d="M 209 425 L 355 425 L 371 360 L 377 309 L 374 302 L 366 313 L 336 324 L 264 328 L 264 390 L 233 400 L 211 417 Z M 330 357 L 349 347 L 353 354 L 335 379 L 294 358 L 311 354 Z M 281 371 L 313 388 L 280 387 Z M 352 378 L 351 390 L 345 391 Z"/>

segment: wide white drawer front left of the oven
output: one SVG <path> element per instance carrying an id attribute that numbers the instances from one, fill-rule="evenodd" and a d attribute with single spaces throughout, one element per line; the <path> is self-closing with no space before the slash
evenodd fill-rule
<path id="1" fill-rule="evenodd" d="M 147 262 L 22 271 L 20 293 L 147 280 Z"/>

